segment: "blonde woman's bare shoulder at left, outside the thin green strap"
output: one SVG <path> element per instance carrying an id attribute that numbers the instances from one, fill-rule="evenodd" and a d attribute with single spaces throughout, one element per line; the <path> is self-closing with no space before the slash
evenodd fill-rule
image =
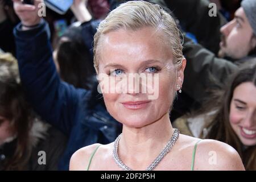
<path id="1" fill-rule="evenodd" d="M 101 144 L 96 143 L 77 150 L 71 157 L 69 162 L 69 170 L 85 171 L 89 164 L 89 158 Z"/>

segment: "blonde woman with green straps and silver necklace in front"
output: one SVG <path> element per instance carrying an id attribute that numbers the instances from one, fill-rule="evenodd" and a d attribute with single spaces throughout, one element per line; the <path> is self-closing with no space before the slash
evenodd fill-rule
<path id="1" fill-rule="evenodd" d="M 160 6 L 131 1 L 113 10 L 94 36 L 94 66 L 98 78 L 115 79 L 110 84 L 114 93 L 106 92 L 109 86 L 99 81 L 107 110 L 123 124 L 122 134 L 113 143 L 76 151 L 69 168 L 244 170 L 237 151 L 228 144 L 188 137 L 172 127 L 169 112 L 176 92 L 181 91 L 185 64 L 175 20 Z M 153 77 L 158 97 L 151 99 L 141 89 L 136 92 L 129 81 L 126 87 L 120 84 L 135 74 Z M 212 151 L 214 164 L 209 163 Z"/>

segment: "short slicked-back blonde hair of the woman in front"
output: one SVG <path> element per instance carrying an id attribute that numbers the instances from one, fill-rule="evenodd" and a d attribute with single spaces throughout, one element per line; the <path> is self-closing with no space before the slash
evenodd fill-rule
<path id="1" fill-rule="evenodd" d="M 154 5 L 145 1 L 129 1 L 122 3 L 117 9 L 111 11 L 109 15 L 100 23 L 94 35 L 94 68 L 98 73 L 98 47 L 102 34 L 117 31 L 121 28 L 126 30 L 139 30 L 144 27 L 153 27 L 162 30 L 167 36 L 167 42 L 174 55 L 174 64 L 180 66 L 183 60 L 182 40 L 180 31 L 177 28 L 174 18 L 162 9 L 159 5 Z"/>

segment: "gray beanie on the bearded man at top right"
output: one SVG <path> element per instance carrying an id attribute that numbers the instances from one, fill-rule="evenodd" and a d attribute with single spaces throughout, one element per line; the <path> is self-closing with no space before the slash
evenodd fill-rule
<path id="1" fill-rule="evenodd" d="M 256 0 L 243 0 L 241 3 L 246 17 L 249 20 L 254 35 L 256 35 Z"/>

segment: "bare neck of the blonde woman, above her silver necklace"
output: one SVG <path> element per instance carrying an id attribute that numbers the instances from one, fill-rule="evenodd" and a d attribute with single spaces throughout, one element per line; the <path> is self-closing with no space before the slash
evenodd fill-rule
<path id="1" fill-rule="evenodd" d="M 163 150 L 173 133 L 168 113 L 139 129 L 124 125 L 118 145 L 119 158 L 132 169 L 144 170 Z"/>

